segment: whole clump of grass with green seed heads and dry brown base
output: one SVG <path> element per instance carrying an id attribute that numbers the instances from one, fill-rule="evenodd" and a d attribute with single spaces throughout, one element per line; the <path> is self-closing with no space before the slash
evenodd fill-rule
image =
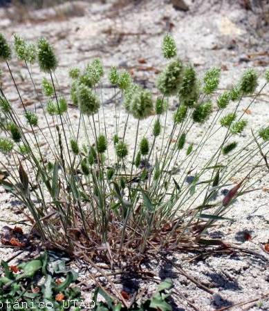
<path id="1" fill-rule="evenodd" d="M 40 114 L 48 126 L 45 134 L 39 114 L 26 109 L 10 70 L 11 50 L 0 35 L 0 59 L 24 109 L 17 111 L 1 86 L 0 151 L 6 158 L 1 166 L 8 171 L 8 178 L 1 182 L 28 207 L 29 219 L 44 245 L 49 241 L 73 254 L 118 263 L 151 249 L 198 245 L 205 241 L 207 228 L 225 221 L 236 198 L 253 187 L 255 176 L 264 169 L 268 126 L 255 129 L 254 139 L 250 135 L 245 144 L 241 142 L 241 133 L 248 135 L 250 129 L 239 104 L 256 92 L 248 108 L 253 104 L 269 82 L 268 73 L 260 91 L 256 91 L 258 75 L 251 69 L 216 98 L 221 70 L 207 70 L 199 79 L 194 67 L 176 55 L 174 39 L 166 36 L 163 55 L 168 64 L 156 81 L 160 91 L 156 98 L 135 84 L 128 71 L 113 66 L 105 73 L 100 59 L 94 59 L 84 70 L 69 71 L 69 101 L 57 85 L 53 46 L 44 38 L 29 44 L 15 36 L 15 54 L 26 64 L 29 83 L 39 99 L 29 64 L 36 59 L 33 66 L 38 65 L 45 75 L 41 86 L 46 100 L 40 102 Z M 115 88 L 112 133 L 106 126 L 111 115 L 106 115 L 102 97 L 105 79 Z M 168 110 L 174 99 L 178 109 L 169 131 Z M 71 117 L 69 103 L 75 104 L 77 119 Z M 125 117 L 124 129 L 120 117 Z M 131 118 L 136 126 L 130 126 Z M 152 121 L 149 126 L 144 123 L 147 118 Z M 198 130 L 203 135 L 196 144 L 189 136 Z M 133 134 L 131 140 L 127 131 Z M 222 138 L 216 139 L 219 133 Z M 212 138 L 214 153 L 208 153 L 206 143 Z M 202 152 L 205 161 L 199 158 Z M 251 166 L 250 158 L 257 159 Z M 18 169 L 9 165 L 10 159 Z M 191 172 L 194 176 L 189 176 Z M 232 189 L 225 200 L 218 196 L 232 177 L 242 174 L 236 191 Z"/>

